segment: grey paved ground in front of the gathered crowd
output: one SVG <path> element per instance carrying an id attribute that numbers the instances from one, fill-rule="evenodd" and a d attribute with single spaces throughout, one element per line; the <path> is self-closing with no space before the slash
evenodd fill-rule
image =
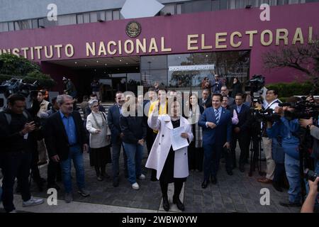
<path id="1" fill-rule="evenodd" d="M 147 153 L 145 152 L 145 155 Z M 122 156 L 122 155 L 121 155 Z M 121 157 L 121 160 L 122 157 Z M 142 160 L 145 166 L 146 157 Z M 262 165 L 265 162 L 263 162 Z M 261 184 L 257 182 L 257 172 L 254 172 L 252 177 L 248 177 L 247 170 L 242 173 L 235 169 L 233 176 L 228 176 L 225 172 L 225 164 L 220 163 L 218 172 L 218 184 L 209 184 L 206 189 L 201 188 L 202 172 L 190 172 L 184 185 L 184 204 L 185 212 L 190 213 L 213 213 L 213 212 L 299 212 L 300 209 L 286 208 L 279 205 L 279 201 L 288 198 L 287 192 L 276 192 L 272 185 Z M 130 187 L 127 179 L 121 171 L 121 181 L 119 187 L 112 186 L 112 180 L 104 179 L 103 182 L 96 180 L 94 168 L 89 166 L 89 155 L 84 154 L 84 166 L 86 175 L 86 187 L 91 192 L 91 196 L 86 198 L 77 194 L 75 184 L 75 175 L 73 172 L 74 185 L 74 201 L 84 202 L 86 204 L 104 204 L 116 206 L 125 209 L 147 209 L 152 211 L 163 211 L 162 197 L 159 187 L 159 182 L 150 182 L 150 170 L 145 169 L 147 179 L 139 181 L 140 190 L 135 191 Z M 246 169 L 248 169 L 246 166 Z M 74 168 L 73 168 L 74 170 Z M 121 163 L 123 170 L 123 162 Z M 41 175 L 46 177 L 47 167 L 40 168 Z M 111 164 L 106 167 L 106 172 L 111 175 Z M 59 182 L 60 186 L 62 184 Z M 270 205 L 262 206 L 259 202 L 262 194 L 260 189 L 268 188 L 270 192 Z M 33 196 L 47 198 L 46 192 L 38 192 L 37 187 L 33 183 L 31 186 Z M 63 199 L 63 189 L 58 192 L 58 199 Z M 183 198 L 181 198 L 183 199 Z M 64 201 L 61 201 L 63 203 Z M 97 205 L 96 205 L 97 206 Z M 124 209 L 125 208 L 125 209 Z M 130 210 L 128 210 L 130 212 Z M 171 211 L 177 211 L 176 207 L 172 206 Z M 50 212 L 50 209 L 47 210 Z M 120 209 L 121 212 L 121 209 Z"/>

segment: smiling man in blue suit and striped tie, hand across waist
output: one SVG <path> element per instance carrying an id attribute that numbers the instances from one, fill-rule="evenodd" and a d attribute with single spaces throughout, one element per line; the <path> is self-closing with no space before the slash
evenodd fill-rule
<path id="1" fill-rule="evenodd" d="M 204 189 L 211 175 L 212 184 L 217 183 L 217 171 L 223 148 L 230 148 L 232 119 L 230 111 L 221 106 L 221 94 L 213 94 L 212 107 L 203 111 L 198 126 L 203 128 L 204 175 L 201 187 Z"/>

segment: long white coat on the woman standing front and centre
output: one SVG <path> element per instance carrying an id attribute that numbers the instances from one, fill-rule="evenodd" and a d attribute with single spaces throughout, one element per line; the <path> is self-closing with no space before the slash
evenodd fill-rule
<path id="1" fill-rule="evenodd" d="M 185 128 L 185 133 L 189 134 L 189 141 L 193 140 L 194 135 L 191 133 L 191 126 L 186 118 L 181 117 L 181 127 Z M 169 154 L 169 149 L 172 146 L 172 139 L 170 131 L 173 129 L 170 116 L 167 114 L 160 116 L 153 116 L 151 114 L 147 120 L 148 126 L 153 130 L 158 131 L 157 137 L 153 143 L 150 155 L 147 158 L 146 167 L 150 169 L 157 170 L 157 179 L 159 179 L 167 155 Z M 175 150 L 174 157 L 174 177 L 184 178 L 189 175 L 189 161 L 187 155 L 187 147 Z"/>

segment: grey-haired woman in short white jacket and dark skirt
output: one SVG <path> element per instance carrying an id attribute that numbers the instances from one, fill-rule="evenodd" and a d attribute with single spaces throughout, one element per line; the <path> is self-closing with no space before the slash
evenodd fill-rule
<path id="1" fill-rule="evenodd" d="M 95 168 L 97 179 L 102 181 L 107 177 L 106 164 L 111 163 L 111 131 L 108 128 L 106 114 L 99 111 L 99 101 L 90 100 L 89 108 L 91 114 L 86 118 L 86 129 L 90 133 L 90 164 Z"/>

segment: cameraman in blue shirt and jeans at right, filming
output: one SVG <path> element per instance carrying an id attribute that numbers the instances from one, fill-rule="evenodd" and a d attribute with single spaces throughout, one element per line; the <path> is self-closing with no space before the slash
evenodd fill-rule
<path id="1" fill-rule="evenodd" d="M 291 96 L 289 102 L 298 101 L 297 97 Z M 300 130 L 298 119 L 289 120 L 284 116 L 285 112 L 294 111 L 290 106 L 277 107 L 275 112 L 281 115 L 280 121 L 274 124 L 267 122 L 267 135 L 269 138 L 281 138 L 281 147 L 285 153 L 286 176 L 289 181 L 289 201 L 279 202 L 281 206 L 301 206 L 301 181 L 299 162 L 299 138 L 297 132 Z"/>

